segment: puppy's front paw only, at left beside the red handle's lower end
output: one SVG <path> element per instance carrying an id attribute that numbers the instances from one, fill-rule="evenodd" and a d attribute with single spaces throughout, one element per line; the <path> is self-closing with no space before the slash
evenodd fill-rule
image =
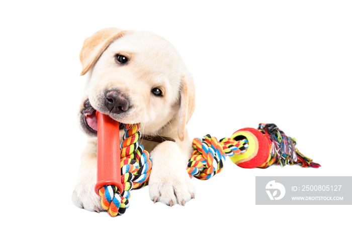
<path id="1" fill-rule="evenodd" d="M 80 180 L 73 190 L 73 204 L 89 211 L 96 211 L 98 213 L 103 211 L 101 197 L 94 191 L 95 185 L 95 176 L 86 176 L 84 179 Z"/>

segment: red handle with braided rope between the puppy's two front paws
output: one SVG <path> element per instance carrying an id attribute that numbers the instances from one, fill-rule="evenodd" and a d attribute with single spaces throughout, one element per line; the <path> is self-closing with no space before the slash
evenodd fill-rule
<path id="1" fill-rule="evenodd" d="M 124 126 L 124 140 L 120 145 L 119 123 L 99 111 L 96 114 L 98 182 L 95 190 L 102 197 L 102 207 L 111 216 L 116 216 L 125 213 L 129 207 L 130 190 L 141 188 L 148 183 L 152 162 L 149 153 L 138 144 L 141 136 L 140 124 Z M 115 180 L 111 179 L 112 177 Z M 119 182 L 116 182 L 117 180 Z"/>

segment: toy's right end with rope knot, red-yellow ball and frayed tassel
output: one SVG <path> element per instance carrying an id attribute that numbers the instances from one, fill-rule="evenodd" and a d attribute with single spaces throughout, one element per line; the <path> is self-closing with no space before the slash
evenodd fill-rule
<path id="1" fill-rule="evenodd" d="M 296 139 L 287 137 L 275 124 L 259 124 L 258 129 L 240 129 L 220 141 L 206 135 L 204 139 L 193 140 L 194 151 L 187 171 L 191 178 L 210 179 L 222 170 L 226 156 L 242 168 L 268 168 L 277 164 L 320 167 L 299 152 L 296 144 Z"/>

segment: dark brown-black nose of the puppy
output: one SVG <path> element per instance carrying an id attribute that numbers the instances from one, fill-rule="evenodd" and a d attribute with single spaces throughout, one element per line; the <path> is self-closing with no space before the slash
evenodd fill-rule
<path id="1" fill-rule="evenodd" d="M 112 113 L 122 113 L 128 110 L 130 103 L 119 90 L 109 90 L 105 95 L 105 106 Z"/>

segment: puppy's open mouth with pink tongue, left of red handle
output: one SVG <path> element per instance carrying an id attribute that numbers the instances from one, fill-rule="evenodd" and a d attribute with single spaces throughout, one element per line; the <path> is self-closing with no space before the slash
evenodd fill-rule
<path id="1" fill-rule="evenodd" d="M 86 99 L 81 110 L 81 119 L 84 127 L 90 135 L 97 135 L 98 133 L 98 119 L 96 116 L 97 110 L 91 105 L 89 99 Z M 82 123 L 82 124 L 83 124 Z M 119 123 L 120 129 L 124 129 L 124 124 Z"/>

